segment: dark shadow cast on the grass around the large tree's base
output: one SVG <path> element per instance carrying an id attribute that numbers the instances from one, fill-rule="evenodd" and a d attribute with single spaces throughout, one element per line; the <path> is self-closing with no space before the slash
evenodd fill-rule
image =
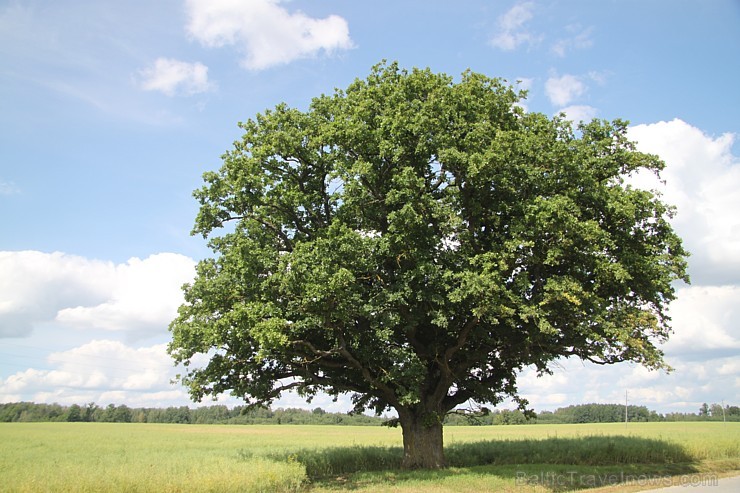
<path id="1" fill-rule="evenodd" d="M 251 454 L 244 451 L 241 455 L 248 458 Z M 298 462 L 314 484 L 330 489 L 439 481 L 469 474 L 565 491 L 696 471 L 695 459 L 677 444 L 623 436 L 452 444 L 445 447 L 449 467 L 438 471 L 401 470 L 402 455 L 400 447 L 358 446 L 300 449 L 271 453 L 267 458 Z"/>

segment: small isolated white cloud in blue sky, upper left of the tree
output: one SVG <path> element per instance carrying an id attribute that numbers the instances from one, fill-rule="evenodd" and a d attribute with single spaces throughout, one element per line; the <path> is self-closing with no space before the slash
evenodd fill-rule
<path id="1" fill-rule="evenodd" d="M 140 87 L 167 96 L 192 96 L 213 89 L 208 80 L 208 67 L 200 62 L 188 63 L 172 58 L 157 58 L 152 66 L 140 71 Z"/>

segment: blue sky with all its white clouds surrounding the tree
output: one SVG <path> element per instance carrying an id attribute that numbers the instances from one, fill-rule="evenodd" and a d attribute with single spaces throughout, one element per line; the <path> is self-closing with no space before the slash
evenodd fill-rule
<path id="1" fill-rule="evenodd" d="M 384 59 L 519 81 L 528 111 L 629 120 L 666 162 L 640 183 L 677 207 L 692 253 L 674 371 L 524 370 L 535 410 L 740 405 L 737 0 L 0 0 L 0 402 L 194 405 L 166 353 L 211 253 L 192 191 L 238 122 L 306 109 Z"/>

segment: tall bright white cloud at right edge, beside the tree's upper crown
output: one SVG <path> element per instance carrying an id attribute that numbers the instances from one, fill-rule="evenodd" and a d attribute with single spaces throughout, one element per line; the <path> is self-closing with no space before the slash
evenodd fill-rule
<path id="1" fill-rule="evenodd" d="M 630 127 L 643 152 L 666 162 L 659 183 L 643 174 L 634 182 L 657 189 L 678 215 L 673 223 L 691 252 L 694 283 L 740 284 L 740 158 L 732 154 L 734 135 L 712 137 L 682 120 Z"/>

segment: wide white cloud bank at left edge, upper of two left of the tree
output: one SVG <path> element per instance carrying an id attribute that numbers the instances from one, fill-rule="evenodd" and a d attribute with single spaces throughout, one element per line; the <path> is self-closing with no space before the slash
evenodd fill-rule
<path id="1" fill-rule="evenodd" d="M 0 337 L 57 321 L 80 329 L 164 330 L 194 261 L 172 253 L 124 264 L 63 253 L 0 252 Z"/>

